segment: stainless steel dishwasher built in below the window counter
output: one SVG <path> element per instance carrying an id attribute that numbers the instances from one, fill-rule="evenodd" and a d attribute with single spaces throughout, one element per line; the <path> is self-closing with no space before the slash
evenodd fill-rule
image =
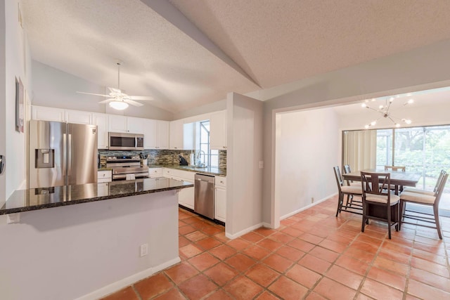
<path id="1" fill-rule="evenodd" d="M 195 174 L 194 211 L 214 219 L 214 176 Z"/>

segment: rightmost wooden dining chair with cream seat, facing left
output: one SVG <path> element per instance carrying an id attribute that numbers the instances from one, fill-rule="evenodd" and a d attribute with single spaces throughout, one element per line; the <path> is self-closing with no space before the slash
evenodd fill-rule
<path id="1" fill-rule="evenodd" d="M 400 211 L 401 211 L 400 226 L 401 223 L 409 223 L 407 221 L 404 221 L 404 219 L 412 219 L 420 221 L 420 223 L 409 223 L 409 224 L 428 228 L 435 228 L 437 230 L 437 235 L 439 235 L 439 239 L 442 240 L 441 223 L 439 221 L 439 201 L 441 200 L 442 192 L 444 190 L 444 186 L 446 184 L 448 177 L 449 174 L 447 174 L 444 171 L 442 174 L 442 178 L 439 181 L 439 186 L 437 187 L 437 190 L 433 195 L 407 191 L 404 191 L 403 193 L 400 194 Z M 425 205 L 429 207 L 431 206 L 433 207 L 433 213 L 428 214 L 426 212 L 418 212 L 418 211 L 412 212 L 411 210 L 406 210 L 405 208 L 406 203 Z M 428 226 L 423 223 L 434 223 L 435 226 Z"/>

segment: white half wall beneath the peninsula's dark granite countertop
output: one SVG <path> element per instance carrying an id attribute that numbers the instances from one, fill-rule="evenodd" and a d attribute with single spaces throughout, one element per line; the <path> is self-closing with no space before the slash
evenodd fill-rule
<path id="1" fill-rule="evenodd" d="M 0 299 L 98 299 L 179 261 L 167 191 L 0 216 Z M 148 255 L 139 247 L 148 244 Z"/>

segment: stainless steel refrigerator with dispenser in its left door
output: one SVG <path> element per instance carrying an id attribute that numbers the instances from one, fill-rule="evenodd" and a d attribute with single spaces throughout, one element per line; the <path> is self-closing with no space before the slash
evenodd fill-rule
<path id="1" fill-rule="evenodd" d="M 29 188 L 96 183 L 96 125 L 37 120 L 29 124 Z"/>

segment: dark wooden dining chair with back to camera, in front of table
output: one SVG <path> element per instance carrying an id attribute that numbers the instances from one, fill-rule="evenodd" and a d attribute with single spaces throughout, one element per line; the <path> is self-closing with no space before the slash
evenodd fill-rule
<path id="1" fill-rule="evenodd" d="M 390 173 L 361 171 L 363 219 L 361 231 L 368 219 L 387 223 L 387 232 L 391 238 L 391 227 L 399 228 L 399 196 L 390 193 Z"/>

